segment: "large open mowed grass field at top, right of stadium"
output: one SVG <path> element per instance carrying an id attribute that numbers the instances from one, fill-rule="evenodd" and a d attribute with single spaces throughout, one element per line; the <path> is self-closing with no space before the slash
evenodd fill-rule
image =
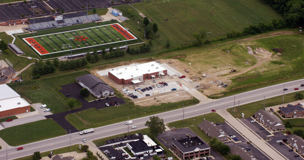
<path id="1" fill-rule="evenodd" d="M 212 35 L 207 34 L 206 39 L 209 39 L 226 36 L 230 31 L 240 31 L 251 24 L 268 23 L 272 18 L 282 18 L 281 14 L 262 0 L 214 0 L 214 2 L 216 6 L 213 5 L 213 0 L 171 0 L 165 4 L 162 0 L 155 0 L 134 3 L 132 6 L 150 18 L 152 23 L 157 23 L 158 32 L 171 44 L 195 41 L 192 34 L 200 27 L 204 27 L 207 32 L 212 30 Z M 214 11 L 213 16 L 211 11 Z M 137 24 L 134 25 L 136 27 Z"/>

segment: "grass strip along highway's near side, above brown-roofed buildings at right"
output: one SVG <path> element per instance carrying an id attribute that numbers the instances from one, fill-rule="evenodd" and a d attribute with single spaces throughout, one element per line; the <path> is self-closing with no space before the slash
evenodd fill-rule
<path id="1" fill-rule="evenodd" d="M 293 101 L 297 101 L 294 96 L 296 93 L 304 93 L 304 91 L 299 91 L 299 92 L 293 92 L 293 93 L 288 93 L 284 95 L 284 103 L 289 103 Z M 276 96 L 272 98 L 265 99 L 265 107 L 271 107 L 275 105 L 280 105 L 282 104 L 282 96 Z M 242 118 L 242 113 L 244 113 L 244 118 L 251 117 L 254 115 L 255 112 L 259 111 L 260 109 L 263 108 L 264 105 L 264 100 L 261 101 L 256 101 L 252 103 L 248 103 L 246 105 L 240 105 L 240 112 L 239 112 L 239 107 L 235 107 L 235 113 L 233 113 L 233 107 L 227 109 L 227 111 L 234 117 L 234 118 Z M 302 118 L 299 118 L 302 120 Z M 290 119 L 291 120 L 291 119 Z"/>

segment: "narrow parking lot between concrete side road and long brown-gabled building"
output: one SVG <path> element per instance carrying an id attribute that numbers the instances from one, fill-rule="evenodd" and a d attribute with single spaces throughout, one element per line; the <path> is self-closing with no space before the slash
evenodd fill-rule
<path id="1" fill-rule="evenodd" d="M 261 138 L 268 138 L 268 135 L 271 135 L 271 133 L 268 132 L 267 129 L 260 130 L 262 128 L 261 123 L 255 121 L 255 122 L 250 122 L 253 119 L 251 117 L 248 118 L 243 118 L 241 121 L 247 125 L 253 132 L 257 133 Z"/>

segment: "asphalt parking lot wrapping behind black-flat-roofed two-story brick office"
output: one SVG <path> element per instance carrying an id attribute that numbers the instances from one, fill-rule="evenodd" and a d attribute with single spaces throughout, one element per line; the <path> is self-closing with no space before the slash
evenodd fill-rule
<path id="1" fill-rule="evenodd" d="M 187 138 L 186 136 L 189 135 L 190 137 L 195 137 L 197 136 L 194 132 L 192 132 L 191 129 L 189 129 L 188 127 L 186 128 L 179 128 L 179 129 L 175 129 L 176 131 L 172 131 L 172 130 L 168 130 L 166 131 L 166 133 L 162 133 L 159 134 L 156 138 L 158 139 L 159 142 L 161 142 L 166 148 L 171 148 L 172 147 L 172 141 L 173 137 L 176 138 L 176 140 L 179 139 L 184 139 Z M 200 130 L 200 132 L 202 132 Z M 198 137 L 198 136 L 197 136 Z M 163 139 L 163 140 L 162 140 Z M 204 141 L 203 141 L 204 142 Z M 206 143 L 206 142 L 204 142 Z M 206 143 L 207 144 L 207 143 Z M 211 148 L 210 153 L 212 154 L 212 156 L 216 159 L 216 160 L 224 160 L 224 158 L 222 158 L 221 155 L 219 155 L 215 150 L 213 150 Z"/>

